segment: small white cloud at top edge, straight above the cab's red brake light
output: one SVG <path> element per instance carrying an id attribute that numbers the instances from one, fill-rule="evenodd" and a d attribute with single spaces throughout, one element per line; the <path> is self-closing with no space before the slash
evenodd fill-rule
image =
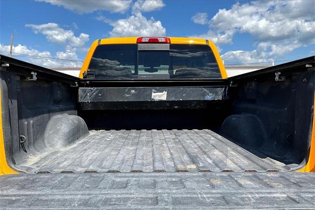
<path id="1" fill-rule="evenodd" d="M 162 0 L 137 0 L 132 6 L 133 14 L 161 9 L 165 4 Z"/>

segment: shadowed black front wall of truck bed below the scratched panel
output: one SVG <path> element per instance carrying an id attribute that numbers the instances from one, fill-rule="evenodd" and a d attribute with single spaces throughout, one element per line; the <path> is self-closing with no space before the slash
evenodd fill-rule
<path id="1" fill-rule="evenodd" d="M 79 115 L 91 129 L 212 129 L 219 131 L 227 103 L 200 109 L 85 110 Z"/>

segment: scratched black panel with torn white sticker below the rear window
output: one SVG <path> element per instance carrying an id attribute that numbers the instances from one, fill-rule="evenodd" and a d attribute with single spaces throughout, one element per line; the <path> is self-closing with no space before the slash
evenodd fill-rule
<path id="1" fill-rule="evenodd" d="M 79 88 L 79 102 L 222 100 L 224 87 Z"/>

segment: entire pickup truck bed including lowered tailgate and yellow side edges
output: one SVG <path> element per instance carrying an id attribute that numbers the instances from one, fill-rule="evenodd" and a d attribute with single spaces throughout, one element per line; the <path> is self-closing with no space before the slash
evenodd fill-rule
<path id="1" fill-rule="evenodd" d="M 20 173 L 0 176 L 0 208 L 315 207 L 315 174 L 293 172 L 315 170 L 314 56 L 166 81 L 0 64 L 0 174 Z"/>

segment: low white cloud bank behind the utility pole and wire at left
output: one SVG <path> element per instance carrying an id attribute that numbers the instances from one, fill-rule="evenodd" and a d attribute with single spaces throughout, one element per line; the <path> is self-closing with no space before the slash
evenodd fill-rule
<path id="1" fill-rule="evenodd" d="M 32 56 L 41 56 L 41 57 L 53 57 L 48 51 L 38 51 L 32 48 L 29 48 L 26 45 L 18 44 L 12 47 L 12 51 L 15 53 L 32 55 Z M 0 54 L 9 55 L 10 45 L 3 45 L 0 43 Z M 65 60 L 56 60 L 50 58 L 40 58 L 40 57 L 31 57 L 31 56 L 22 56 L 13 53 L 13 57 L 25 60 L 32 64 L 36 64 L 43 67 L 81 67 L 82 62 L 74 62 L 74 61 L 65 61 Z M 78 60 L 76 54 L 74 52 L 57 52 L 55 58 L 59 59 L 70 59 L 70 60 Z"/>

